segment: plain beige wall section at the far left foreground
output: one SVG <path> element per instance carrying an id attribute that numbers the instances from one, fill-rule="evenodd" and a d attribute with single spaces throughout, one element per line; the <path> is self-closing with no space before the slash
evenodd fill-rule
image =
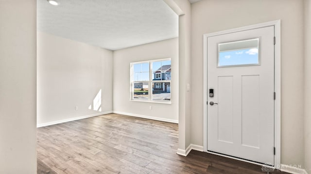
<path id="1" fill-rule="evenodd" d="M 36 173 L 36 1 L 0 0 L 0 174 Z"/>

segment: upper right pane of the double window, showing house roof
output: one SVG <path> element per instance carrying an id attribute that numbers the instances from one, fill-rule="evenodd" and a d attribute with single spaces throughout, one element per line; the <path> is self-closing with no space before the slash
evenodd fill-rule
<path id="1" fill-rule="evenodd" d="M 171 60 L 153 62 L 152 70 L 153 80 L 171 80 Z"/>

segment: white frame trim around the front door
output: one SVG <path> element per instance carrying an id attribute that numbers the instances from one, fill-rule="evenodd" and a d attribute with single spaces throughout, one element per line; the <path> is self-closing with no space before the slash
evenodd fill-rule
<path id="1" fill-rule="evenodd" d="M 246 27 L 240 27 L 236 29 L 228 29 L 224 31 L 218 31 L 213 33 L 208 33 L 203 35 L 203 151 L 207 152 L 207 38 L 211 36 L 217 36 L 227 33 L 239 32 L 250 29 L 258 29 L 263 27 L 275 27 L 275 92 L 276 92 L 276 100 L 275 100 L 275 147 L 276 147 L 276 155 L 275 155 L 275 168 L 280 169 L 281 163 L 281 20 L 275 20 L 271 22 L 265 22 L 260 24 L 255 24 Z M 271 43 L 273 43 L 273 38 L 271 38 Z M 211 153 L 211 152 L 207 152 Z M 224 155 L 225 156 L 225 155 Z M 229 156 L 225 156 L 228 158 L 233 158 Z M 234 158 L 237 160 L 241 160 L 238 158 Z M 243 160 L 247 161 L 247 160 Z M 251 162 L 251 161 L 247 161 Z M 251 162 L 255 164 L 259 164 L 256 162 Z M 262 165 L 262 164 L 260 164 Z"/>

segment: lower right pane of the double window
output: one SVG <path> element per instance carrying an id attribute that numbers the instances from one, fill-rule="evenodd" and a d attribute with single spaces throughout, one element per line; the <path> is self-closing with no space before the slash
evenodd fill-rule
<path id="1" fill-rule="evenodd" d="M 171 82 L 152 83 L 152 100 L 171 100 Z"/>

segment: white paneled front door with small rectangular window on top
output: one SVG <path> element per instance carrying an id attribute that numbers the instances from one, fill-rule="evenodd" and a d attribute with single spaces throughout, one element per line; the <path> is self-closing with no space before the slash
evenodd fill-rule
<path id="1" fill-rule="evenodd" d="M 274 26 L 207 38 L 208 151 L 274 165 L 273 41 Z"/>

